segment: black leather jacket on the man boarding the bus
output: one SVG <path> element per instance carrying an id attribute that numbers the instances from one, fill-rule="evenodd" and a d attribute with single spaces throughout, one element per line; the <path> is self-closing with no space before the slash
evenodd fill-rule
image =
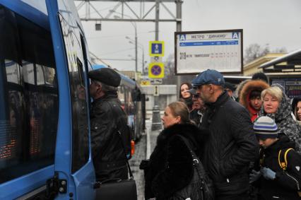
<path id="1" fill-rule="evenodd" d="M 126 178 L 126 158 L 117 131 L 126 131 L 127 119 L 117 93 L 107 93 L 92 103 L 90 122 L 97 180 Z"/>

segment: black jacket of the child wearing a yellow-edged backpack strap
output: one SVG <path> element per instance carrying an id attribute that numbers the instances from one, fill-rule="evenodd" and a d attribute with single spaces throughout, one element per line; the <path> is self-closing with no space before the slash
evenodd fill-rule
<path id="1" fill-rule="evenodd" d="M 295 148 L 295 143 L 288 139 L 288 136 L 281 138 L 266 149 L 263 149 L 262 167 L 268 167 L 276 172 L 275 180 L 266 180 L 261 177 L 259 180 L 259 194 L 261 199 L 272 199 L 272 196 L 278 196 L 280 200 L 301 199 L 297 195 L 297 190 L 301 187 L 301 156 L 294 150 L 287 154 L 288 167 L 283 172 L 278 163 L 279 151 L 285 151 L 288 148 Z M 299 170 L 298 170 L 299 169 Z"/>

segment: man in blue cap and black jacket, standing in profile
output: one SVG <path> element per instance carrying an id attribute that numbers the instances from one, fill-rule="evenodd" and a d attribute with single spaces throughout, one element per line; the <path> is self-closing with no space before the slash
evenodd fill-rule
<path id="1" fill-rule="evenodd" d="M 191 83 L 206 105 L 201 128 L 211 134 L 200 157 L 213 180 L 216 199 L 248 199 L 249 163 L 259 152 L 249 113 L 230 99 L 220 72 L 208 69 Z"/>

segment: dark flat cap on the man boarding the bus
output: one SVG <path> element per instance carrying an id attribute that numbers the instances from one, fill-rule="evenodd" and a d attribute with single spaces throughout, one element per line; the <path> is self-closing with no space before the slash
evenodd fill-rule
<path id="1" fill-rule="evenodd" d="M 108 86 L 118 87 L 122 77 L 117 71 L 110 68 L 100 68 L 93 71 L 89 71 L 89 78 L 105 83 Z"/>

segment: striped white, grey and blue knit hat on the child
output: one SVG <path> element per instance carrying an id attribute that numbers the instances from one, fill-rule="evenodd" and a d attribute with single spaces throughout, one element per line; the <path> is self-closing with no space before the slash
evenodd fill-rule
<path id="1" fill-rule="evenodd" d="M 254 132 L 259 139 L 276 139 L 278 127 L 271 117 L 259 117 L 254 122 Z"/>

